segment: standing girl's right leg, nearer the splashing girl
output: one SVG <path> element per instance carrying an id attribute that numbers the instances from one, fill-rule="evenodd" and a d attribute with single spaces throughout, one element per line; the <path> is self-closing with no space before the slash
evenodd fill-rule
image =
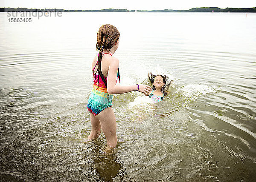
<path id="1" fill-rule="evenodd" d="M 109 147 L 116 147 L 116 117 L 112 107 L 105 108 L 97 116 Z"/>

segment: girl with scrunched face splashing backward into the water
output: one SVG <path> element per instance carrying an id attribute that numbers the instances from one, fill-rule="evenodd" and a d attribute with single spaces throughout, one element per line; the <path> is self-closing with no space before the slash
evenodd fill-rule
<path id="1" fill-rule="evenodd" d="M 148 73 L 148 79 L 153 84 L 153 91 L 148 92 L 145 95 L 149 96 L 149 98 L 151 98 L 154 103 L 162 101 L 163 97 L 169 94 L 167 89 L 169 88 L 169 85 L 172 83 L 173 80 L 166 84 L 166 80 L 168 80 L 168 77 L 166 75 L 153 75 L 151 72 Z"/>

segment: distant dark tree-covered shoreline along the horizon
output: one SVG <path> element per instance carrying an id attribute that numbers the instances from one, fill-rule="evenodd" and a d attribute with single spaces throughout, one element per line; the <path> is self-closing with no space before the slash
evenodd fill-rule
<path id="1" fill-rule="evenodd" d="M 192 8 L 189 10 L 127 10 L 127 9 L 101 9 L 101 10 L 66 10 L 66 9 L 27 9 L 27 8 L 0 8 L 0 12 L 44 12 L 44 11 L 63 11 L 63 12 L 240 12 L 240 13 L 256 13 L 256 7 L 254 8 L 225 8 L 220 9 L 218 7 L 209 8 Z"/>

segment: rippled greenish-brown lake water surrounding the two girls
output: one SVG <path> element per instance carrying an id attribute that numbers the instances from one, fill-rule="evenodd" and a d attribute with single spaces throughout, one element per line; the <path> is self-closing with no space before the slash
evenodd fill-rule
<path id="1" fill-rule="evenodd" d="M 63 12 L 9 22 L 0 14 L 2 181 L 253 181 L 256 14 Z M 96 33 L 120 31 L 121 84 L 167 74 L 157 104 L 114 95 L 118 144 L 87 141 Z"/>

